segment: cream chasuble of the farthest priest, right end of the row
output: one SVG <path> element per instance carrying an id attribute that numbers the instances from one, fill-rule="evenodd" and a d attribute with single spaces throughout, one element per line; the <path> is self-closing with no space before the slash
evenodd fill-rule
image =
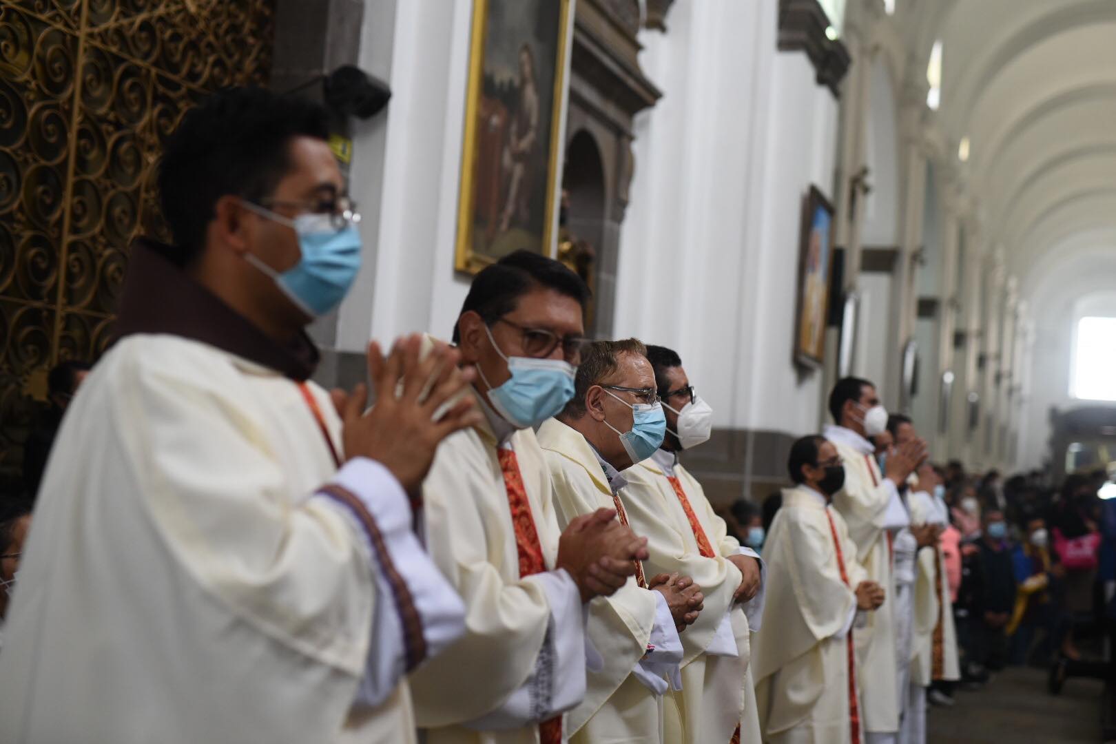
<path id="1" fill-rule="evenodd" d="M 945 502 L 925 491 L 911 494 L 911 523 L 949 524 Z M 914 639 L 911 680 L 922 687 L 932 682 L 961 678 L 958 634 L 953 625 L 953 602 L 945 579 L 945 561 L 940 548 L 918 551 L 918 577 L 914 591 Z"/>

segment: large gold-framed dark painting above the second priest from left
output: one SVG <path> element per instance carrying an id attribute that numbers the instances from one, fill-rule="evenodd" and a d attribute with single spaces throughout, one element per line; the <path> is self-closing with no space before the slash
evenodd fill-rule
<path id="1" fill-rule="evenodd" d="M 473 0 L 454 268 L 547 254 L 561 176 L 570 0 Z"/>

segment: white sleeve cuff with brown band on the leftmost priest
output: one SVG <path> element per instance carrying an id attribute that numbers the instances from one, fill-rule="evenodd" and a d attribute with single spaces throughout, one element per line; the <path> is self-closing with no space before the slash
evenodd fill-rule
<path id="1" fill-rule="evenodd" d="M 376 584 L 357 700 L 378 705 L 400 679 L 465 630 L 465 607 L 411 530 L 411 504 L 382 464 L 356 457 L 318 492 L 359 526 Z"/>

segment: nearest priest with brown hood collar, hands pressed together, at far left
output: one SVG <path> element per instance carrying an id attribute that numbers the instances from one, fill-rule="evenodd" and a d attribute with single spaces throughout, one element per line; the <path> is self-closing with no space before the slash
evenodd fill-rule
<path id="1" fill-rule="evenodd" d="M 463 606 L 408 492 L 475 412 L 442 405 L 468 375 L 445 347 L 420 361 L 417 337 L 386 366 L 369 349 L 377 390 L 401 395 L 367 414 L 363 390 L 309 381 L 302 328 L 360 254 L 327 120 L 230 89 L 167 144 L 177 244 L 133 247 L 117 340 L 55 443 L 4 629 L 0 741 L 415 742 L 404 674 L 460 636 Z"/>

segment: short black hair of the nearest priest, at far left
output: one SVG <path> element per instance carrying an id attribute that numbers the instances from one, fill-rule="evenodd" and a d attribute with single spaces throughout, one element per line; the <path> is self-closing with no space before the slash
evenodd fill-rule
<path id="1" fill-rule="evenodd" d="M 163 147 L 158 193 L 182 263 L 205 245 L 213 206 L 227 194 L 259 202 L 290 170 L 294 137 L 329 137 L 320 104 L 262 88 L 225 88 L 186 112 Z"/>

